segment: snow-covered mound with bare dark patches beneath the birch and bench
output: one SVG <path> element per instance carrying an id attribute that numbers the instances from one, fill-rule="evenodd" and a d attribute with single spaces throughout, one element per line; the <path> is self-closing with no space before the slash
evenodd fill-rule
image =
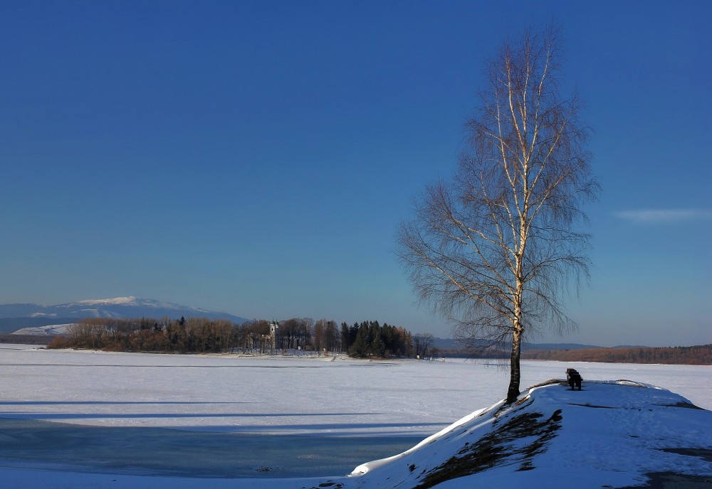
<path id="1" fill-rule="evenodd" d="M 365 463 L 353 487 L 712 487 L 712 412 L 627 380 L 534 387 L 398 456 Z M 659 485 L 646 485 L 654 480 Z M 554 485 L 552 482 L 556 481 Z M 667 484 L 667 485 L 660 485 Z M 352 487 L 344 484 L 344 488 Z"/>

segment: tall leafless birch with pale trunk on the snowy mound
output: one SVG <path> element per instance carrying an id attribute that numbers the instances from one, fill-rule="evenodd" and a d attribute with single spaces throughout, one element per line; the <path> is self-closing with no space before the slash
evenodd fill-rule
<path id="1" fill-rule="evenodd" d="M 486 66 L 450 181 L 428 186 L 403 222 L 399 257 L 419 299 L 469 347 L 511 347 L 507 402 L 520 389 L 524 338 L 575 327 L 562 310 L 588 276 L 582 206 L 599 187 L 575 93 L 560 96 L 557 31 L 526 32 Z"/>

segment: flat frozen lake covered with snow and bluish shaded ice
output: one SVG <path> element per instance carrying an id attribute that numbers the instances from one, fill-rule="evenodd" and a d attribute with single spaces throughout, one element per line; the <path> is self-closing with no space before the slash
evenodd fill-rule
<path id="1" fill-rule="evenodd" d="M 709 366 L 524 362 L 522 387 L 565 377 L 566 367 L 712 409 Z M 0 348 L 0 375 L 0 481 L 28 488 L 257 488 L 345 475 L 495 404 L 508 382 L 492 362 L 26 345 Z"/>

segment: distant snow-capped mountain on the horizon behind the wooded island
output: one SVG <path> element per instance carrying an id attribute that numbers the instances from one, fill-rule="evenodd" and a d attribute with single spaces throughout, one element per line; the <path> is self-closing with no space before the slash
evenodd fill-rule
<path id="1" fill-rule="evenodd" d="M 208 311 L 155 299 L 116 297 L 115 299 L 70 302 L 56 306 L 41 306 L 33 303 L 0 305 L 0 333 L 11 333 L 20 328 L 73 323 L 83 318 L 162 318 L 163 316 L 227 319 L 233 323 L 249 321 L 247 318 L 234 316 L 234 314 Z"/>

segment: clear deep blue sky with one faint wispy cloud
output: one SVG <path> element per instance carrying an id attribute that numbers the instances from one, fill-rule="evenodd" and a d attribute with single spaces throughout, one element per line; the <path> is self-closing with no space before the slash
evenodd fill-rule
<path id="1" fill-rule="evenodd" d="M 707 1 L 3 1 L 0 303 L 138 296 L 449 335 L 394 257 L 483 62 L 556 21 L 600 201 L 580 331 L 712 343 Z"/>

